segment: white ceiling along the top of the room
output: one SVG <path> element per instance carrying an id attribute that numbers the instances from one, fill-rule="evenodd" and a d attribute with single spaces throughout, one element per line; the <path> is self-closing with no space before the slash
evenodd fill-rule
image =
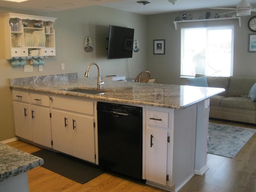
<path id="1" fill-rule="evenodd" d="M 209 7 L 236 7 L 240 0 L 179 0 L 175 5 L 168 0 L 150 0 L 150 4 L 141 5 L 138 0 L 28 0 L 15 3 L 0 0 L 0 8 L 15 8 L 40 12 L 56 12 L 86 6 L 99 5 L 138 14 L 151 15 L 168 12 L 207 9 Z M 256 4 L 256 0 L 248 0 Z"/>

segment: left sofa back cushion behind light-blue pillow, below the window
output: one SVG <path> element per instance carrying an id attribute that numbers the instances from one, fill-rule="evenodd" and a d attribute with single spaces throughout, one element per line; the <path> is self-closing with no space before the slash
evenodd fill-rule
<path id="1" fill-rule="evenodd" d="M 196 77 L 202 77 L 202 74 L 196 74 Z M 229 85 L 229 77 L 212 77 L 206 76 L 207 84 L 209 87 L 217 87 L 224 88 L 225 92 L 220 93 L 219 95 L 228 96 L 228 85 Z"/>

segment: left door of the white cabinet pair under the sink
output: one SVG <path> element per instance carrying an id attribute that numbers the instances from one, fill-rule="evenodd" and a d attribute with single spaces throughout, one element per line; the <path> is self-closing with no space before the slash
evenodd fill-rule
<path id="1" fill-rule="evenodd" d="M 69 117 L 70 114 L 57 110 L 51 112 L 52 148 L 72 155 L 72 119 Z"/>

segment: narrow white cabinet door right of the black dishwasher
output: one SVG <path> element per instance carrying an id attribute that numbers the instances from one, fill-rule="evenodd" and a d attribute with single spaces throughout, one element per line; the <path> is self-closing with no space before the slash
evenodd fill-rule
<path id="1" fill-rule="evenodd" d="M 146 128 L 146 180 L 166 185 L 168 131 Z"/>

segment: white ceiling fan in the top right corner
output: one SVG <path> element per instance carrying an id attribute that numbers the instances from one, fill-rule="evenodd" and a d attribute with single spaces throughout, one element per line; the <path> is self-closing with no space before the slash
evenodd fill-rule
<path id="1" fill-rule="evenodd" d="M 256 4 L 251 5 L 247 0 L 241 0 L 237 4 L 236 8 L 211 7 L 210 9 L 233 10 L 233 11 L 222 13 L 222 14 L 227 14 L 227 13 L 231 13 L 231 12 L 235 12 L 236 11 L 236 16 L 247 16 L 247 15 L 251 14 L 251 10 L 252 9 L 256 9 Z M 256 11 L 256 10 L 252 10 L 252 11 Z M 219 14 L 219 15 L 222 15 L 222 14 Z"/>

